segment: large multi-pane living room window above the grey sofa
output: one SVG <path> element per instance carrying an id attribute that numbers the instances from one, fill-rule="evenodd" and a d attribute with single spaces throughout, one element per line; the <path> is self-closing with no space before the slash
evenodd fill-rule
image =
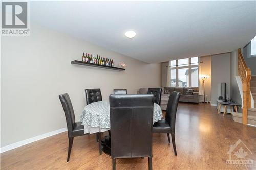
<path id="1" fill-rule="evenodd" d="M 171 87 L 198 87 L 198 57 L 170 61 Z"/>

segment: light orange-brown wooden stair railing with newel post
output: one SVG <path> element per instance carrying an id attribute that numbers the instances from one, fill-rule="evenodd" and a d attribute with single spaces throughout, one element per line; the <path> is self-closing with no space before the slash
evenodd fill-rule
<path id="1" fill-rule="evenodd" d="M 238 49 L 238 75 L 241 77 L 243 83 L 243 124 L 247 125 L 247 109 L 251 108 L 251 70 L 245 64 L 240 48 Z"/>

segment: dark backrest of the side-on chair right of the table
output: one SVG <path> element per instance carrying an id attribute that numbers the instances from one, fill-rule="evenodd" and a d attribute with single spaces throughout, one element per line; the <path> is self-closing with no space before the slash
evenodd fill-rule
<path id="1" fill-rule="evenodd" d="M 169 123 L 170 127 L 172 127 L 172 133 L 175 133 L 175 121 L 176 121 L 176 112 L 179 104 L 180 92 L 172 91 L 169 96 L 167 108 L 166 108 L 166 116 L 165 119 Z"/>

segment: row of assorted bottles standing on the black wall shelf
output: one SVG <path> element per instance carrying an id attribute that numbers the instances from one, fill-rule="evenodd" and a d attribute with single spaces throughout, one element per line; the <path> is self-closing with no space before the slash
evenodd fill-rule
<path id="1" fill-rule="evenodd" d="M 102 58 L 99 55 L 92 55 L 92 54 L 87 54 L 82 55 L 82 61 L 86 63 L 93 63 L 93 64 L 98 64 L 98 65 L 105 65 L 105 66 L 110 66 L 114 67 L 114 62 L 113 59 L 108 59 L 108 58 Z"/>

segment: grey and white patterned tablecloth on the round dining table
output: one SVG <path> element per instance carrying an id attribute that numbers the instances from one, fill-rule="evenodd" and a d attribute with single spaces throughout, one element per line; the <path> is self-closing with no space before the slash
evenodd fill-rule
<path id="1" fill-rule="evenodd" d="M 154 103 L 153 123 L 161 120 L 161 107 Z M 84 126 L 84 133 L 105 132 L 110 130 L 110 103 L 109 101 L 94 102 L 82 111 L 80 121 Z"/>

